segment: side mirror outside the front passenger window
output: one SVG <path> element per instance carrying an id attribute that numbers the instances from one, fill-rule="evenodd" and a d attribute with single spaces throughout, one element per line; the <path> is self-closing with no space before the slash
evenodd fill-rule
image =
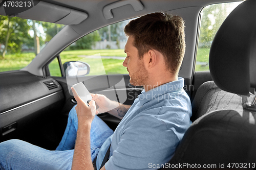
<path id="1" fill-rule="evenodd" d="M 81 61 L 68 61 L 63 67 L 68 77 L 84 76 L 90 72 L 90 65 Z"/>

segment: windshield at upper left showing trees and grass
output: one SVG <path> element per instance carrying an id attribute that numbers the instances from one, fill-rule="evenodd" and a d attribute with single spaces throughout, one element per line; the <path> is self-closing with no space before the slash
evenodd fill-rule
<path id="1" fill-rule="evenodd" d="M 27 66 L 63 27 L 55 23 L 0 15 L 0 72 Z"/>

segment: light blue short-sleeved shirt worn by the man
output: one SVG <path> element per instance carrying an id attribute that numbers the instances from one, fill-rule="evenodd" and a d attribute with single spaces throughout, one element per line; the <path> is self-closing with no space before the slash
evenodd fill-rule
<path id="1" fill-rule="evenodd" d="M 97 169 L 111 143 L 106 170 L 153 169 L 164 164 L 190 126 L 191 104 L 183 90 L 184 79 L 142 91 L 114 134 L 100 148 Z"/>

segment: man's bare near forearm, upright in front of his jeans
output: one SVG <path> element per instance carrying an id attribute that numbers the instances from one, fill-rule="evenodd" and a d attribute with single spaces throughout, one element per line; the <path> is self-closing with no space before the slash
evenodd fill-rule
<path id="1" fill-rule="evenodd" d="M 72 162 L 72 170 L 94 170 L 91 159 L 90 124 L 79 125 Z"/>

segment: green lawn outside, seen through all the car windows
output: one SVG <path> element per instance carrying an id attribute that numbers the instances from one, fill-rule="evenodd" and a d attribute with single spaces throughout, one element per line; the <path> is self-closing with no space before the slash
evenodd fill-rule
<path id="1" fill-rule="evenodd" d="M 90 64 L 89 75 L 100 75 L 102 73 L 117 72 L 119 74 L 127 74 L 127 70 L 122 66 L 123 60 L 117 59 L 93 59 L 78 57 L 81 55 L 91 56 L 94 54 L 100 54 L 101 56 L 118 56 L 125 57 L 126 54 L 123 50 L 74 50 L 74 51 L 63 51 L 60 53 L 62 64 L 67 61 L 78 61 L 83 59 L 84 62 Z M 197 61 L 208 63 L 209 49 L 199 48 L 197 52 Z M 8 54 L 5 58 L 0 58 L 0 72 L 17 70 L 27 66 L 35 57 L 34 53 L 22 53 L 22 54 Z M 103 63 L 103 66 L 102 66 Z M 50 73 L 52 76 L 60 76 L 60 70 L 58 61 L 54 60 L 49 65 Z M 196 71 L 209 70 L 209 65 L 196 65 Z"/>

